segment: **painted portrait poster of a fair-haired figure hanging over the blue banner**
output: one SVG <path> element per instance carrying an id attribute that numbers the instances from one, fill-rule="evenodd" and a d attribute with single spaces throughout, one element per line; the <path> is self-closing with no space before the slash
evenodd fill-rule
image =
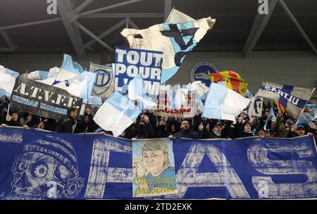
<path id="1" fill-rule="evenodd" d="M 132 144 L 133 197 L 177 194 L 173 141 L 155 139 Z"/>

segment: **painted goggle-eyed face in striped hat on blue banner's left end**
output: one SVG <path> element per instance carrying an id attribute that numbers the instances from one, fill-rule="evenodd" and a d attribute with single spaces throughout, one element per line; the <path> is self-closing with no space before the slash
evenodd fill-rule
<path id="1" fill-rule="evenodd" d="M 62 138 L 25 144 L 11 172 L 12 190 L 4 200 L 75 198 L 84 186 L 75 149 Z"/>

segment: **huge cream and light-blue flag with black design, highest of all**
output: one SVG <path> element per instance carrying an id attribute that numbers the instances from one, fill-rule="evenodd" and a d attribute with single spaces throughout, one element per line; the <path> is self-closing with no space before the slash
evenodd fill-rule
<path id="1" fill-rule="evenodd" d="M 178 71 L 185 56 L 194 49 L 206 32 L 213 28 L 215 22 L 216 19 L 209 17 L 185 23 L 163 23 L 143 30 L 125 28 L 121 35 L 128 39 L 132 48 L 164 53 L 161 78 L 163 84 Z M 137 35 L 141 35 L 142 39 L 136 38 Z"/>

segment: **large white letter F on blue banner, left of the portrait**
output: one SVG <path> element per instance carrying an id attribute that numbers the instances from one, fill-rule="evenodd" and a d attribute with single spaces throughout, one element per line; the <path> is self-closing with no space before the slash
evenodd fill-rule
<path id="1" fill-rule="evenodd" d="M 132 153 L 132 145 L 95 139 L 85 198 L 103 198 L 107 182 L 132 183 L 132 169 L 108 167 L 110 152 Z"/>

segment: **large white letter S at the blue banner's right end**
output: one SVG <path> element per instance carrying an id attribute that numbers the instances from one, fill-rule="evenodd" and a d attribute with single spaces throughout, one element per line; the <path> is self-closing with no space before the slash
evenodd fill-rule
<path id="1" fill-rule="evenodd" d="M 299 158 L 311 157 L 315 154 L 307 145 L 290 142 L 287 145 L 277 143 L 256 144 L 248 148 L 248 159 L 255 170 L 265 174 L 265 177 L 252 177 L 252 183 L 257 191 L 261 182 L 268 184 L 268 198 L 307 198 L 317 194 L 317 171 L 308 160 L 270 160 L 268 153 L 297 153 Z M 308 180 L 304 183 L 278 184 L 269 175 L 305 174 Z"/>

